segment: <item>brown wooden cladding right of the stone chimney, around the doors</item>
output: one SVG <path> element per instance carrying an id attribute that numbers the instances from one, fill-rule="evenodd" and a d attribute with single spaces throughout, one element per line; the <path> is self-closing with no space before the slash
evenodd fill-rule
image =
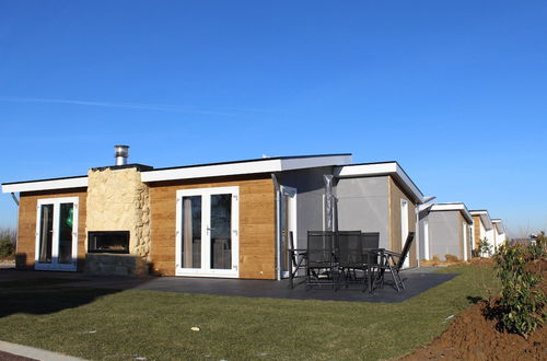
<path id="1" fill-rule="evenodd" d="M 269 175 L 150 184 L 151 270 L 175 275 L 176 191 L 240 187 L 240 278 L 276 278 L 276 194 Z"/>

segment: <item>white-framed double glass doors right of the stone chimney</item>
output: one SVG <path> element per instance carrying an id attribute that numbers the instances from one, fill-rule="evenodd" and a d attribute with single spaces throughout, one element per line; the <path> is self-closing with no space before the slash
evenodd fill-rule
<path id="1" fill-rule="evenodd" d="M 181 189 L 177 276 L 238 277 L 238 187 Z"/>

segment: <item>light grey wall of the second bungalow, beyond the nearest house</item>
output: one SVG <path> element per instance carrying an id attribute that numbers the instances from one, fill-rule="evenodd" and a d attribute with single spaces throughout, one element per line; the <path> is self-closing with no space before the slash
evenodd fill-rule
<path id="1" fill-rule="evenodd" d="M 463 259 L 459 240 L 459 211 L 432 211 L 429 213 L 430 256 L 450 254 Z"/>

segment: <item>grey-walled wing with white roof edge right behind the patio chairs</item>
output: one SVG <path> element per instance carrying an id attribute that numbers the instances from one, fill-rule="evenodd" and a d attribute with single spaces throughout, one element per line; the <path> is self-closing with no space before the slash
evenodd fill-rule
<path id="1" fill-rule="evenodd" d="M 352 164 L 335 168 L 338 228 L 380 232 L 380 247 L 400 251 L 408 232 L 418 237 L 418 206 L 423 195 L 397 162 Z M 406 267 L 417 267 L 415 240 Z"/>

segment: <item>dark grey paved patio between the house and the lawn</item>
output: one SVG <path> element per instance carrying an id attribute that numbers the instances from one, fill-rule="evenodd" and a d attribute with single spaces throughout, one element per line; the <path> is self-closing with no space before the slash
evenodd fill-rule
<path id="1" fill-rule="evenodd" d="M 290 300 L 403 302 L 457 276 L 455 273 L 434 273 L 434 270 L 435 268 L 423 267 L 403 271 L 401 276 L 406 289 L 401 292 L 397 292 L 394 289 L 391 276 L 386 276 L 384 288 L 375 290 L 374 294 L 362 292 L 358 284 L 350 286 L 348 289 L 342 288 L 335 292 L 329 287 L 314 287 L 306 290 L 304 284 L 296 286 L 294 289 L 289 289 L 288 280 L 268 281 L 183 277 L 90 277 L 83 273 L 20 271 L 14 269 L 0 269 L 0 281 L 61 278 L 70 280 L 70 282 L 58 283 L 58 286 L 112 290 L 149 290 Z M 298 283 L 302 280 L 303 279 L 296 279 L 295 281 Z"/>

